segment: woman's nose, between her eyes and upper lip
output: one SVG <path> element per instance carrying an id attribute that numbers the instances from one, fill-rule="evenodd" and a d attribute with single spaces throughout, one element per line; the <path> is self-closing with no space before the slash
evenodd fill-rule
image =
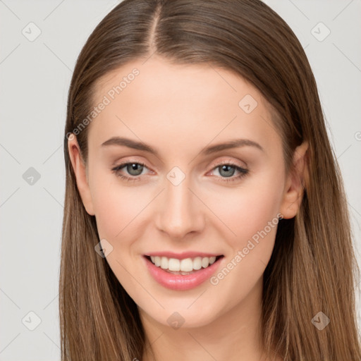
<path id="1" fill-rule="evenodd" d="M 181 240 L 188 233 L 199 233 L 204 228 L 204 204 L 190 189 L 186 177 L 180 184 L 173 185 L 165 180 L 166 189 L 159 197 L 157 228 L 169 238 Z"/>

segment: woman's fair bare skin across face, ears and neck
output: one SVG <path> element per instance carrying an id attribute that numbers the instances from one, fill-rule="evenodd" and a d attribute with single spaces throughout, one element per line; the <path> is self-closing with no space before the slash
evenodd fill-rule
<path id="1" fill-rule="evenodd" d="M 157 360 L 269 360 L 258 325 L 276 226 L 215 286 L 206 281 L 192 290 L 164 288 L 149 275 L 142 255 L 214 252 L 224 255 L 219 269 L 226 267 L 277 214 L 297 214 L 307 143 L 296 149 L 295 173 L 286 174 L 281 137 L 255 87 L 225 69 L 171 65 L 157 56 L 106 74 L 97 82 L 94 106 L 133 68 L 140 74 L 90 123 L 86 165 L 76 137 L 68 141 L 82 202 L 96 216 L 99 239 L 113 247 L 106 260 L 135 300 Z M 257 101 L 250 114 L 238 106 L 245 94 Z M 102 147 L 115 135 L 141 140 L 159 156 Z M 200 154 L 235 138 L 257 142 L 264 151 L 243 146 Z M 145 163 L 140 176 L 126 167 L 119 171 L 138 181 L 123 181 L 111 171 L 123 161 Z M 237 179 L 234 168 L 222 172 L 221 161 L 249 172 Z M 185 174 L 179 185 L 166 178 L 174 166 Z M 229 178 L 235 181 L 224 181 Z M 184 319 L 179 329 L 167 322 L 173 312 Z M 148 351 L 135 357 L 152 360 Z"/>

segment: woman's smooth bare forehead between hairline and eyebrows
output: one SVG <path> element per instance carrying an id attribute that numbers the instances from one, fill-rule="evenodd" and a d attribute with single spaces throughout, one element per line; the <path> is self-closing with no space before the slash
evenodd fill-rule
<path id="1" fill-rule="evenodd" d="M 132 61 L 97 82 L 94 106 L 101 102 L 106 106 L 89 135 L 97 145 L 114 135 L 183 148 L 185 141 L 190 147 L 230 137 L 265 148 L 280 142 L 259 90 L 209 64 L 175 65 L 157 56 Z"/>

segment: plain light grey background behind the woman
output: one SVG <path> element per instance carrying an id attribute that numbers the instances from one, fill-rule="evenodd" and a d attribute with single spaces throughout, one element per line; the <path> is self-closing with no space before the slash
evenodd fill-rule
<path id="1" fill-rule="evenodd" d="M 265 2 L 290 25 L 310 60 L 361 264 L 361 1 Z M 0 0 L 0 360 L 60 359 L 57 298 L 68 86 L 82 45 L 116 4 Z M 30 22 L 41 30 L 32 42 L 22 33 L 36 34 Z M 323 39 L 327 28 L 330 34 Z M 23 178 L 30 167 L 40 175 L 32 185 Z M 360 296 L 357 312 L 360 317 Z"/>

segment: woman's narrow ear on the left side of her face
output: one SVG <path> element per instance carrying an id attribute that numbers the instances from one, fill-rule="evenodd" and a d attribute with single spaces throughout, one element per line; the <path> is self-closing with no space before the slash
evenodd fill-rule
<path id="1" fill-rule="evenodd" d="M 92 203 L 92 195 L 90 194 L 90 187 L 87 181 L 87 168 L 80 154 L 80 147 L 75 135 L 68 137 L 68 152 L 71 159 L 71 164 L 75 173 L 76 183 L 84 204 L 85 210 L 90 216 L 94 216 L 94 207 Z"/>

